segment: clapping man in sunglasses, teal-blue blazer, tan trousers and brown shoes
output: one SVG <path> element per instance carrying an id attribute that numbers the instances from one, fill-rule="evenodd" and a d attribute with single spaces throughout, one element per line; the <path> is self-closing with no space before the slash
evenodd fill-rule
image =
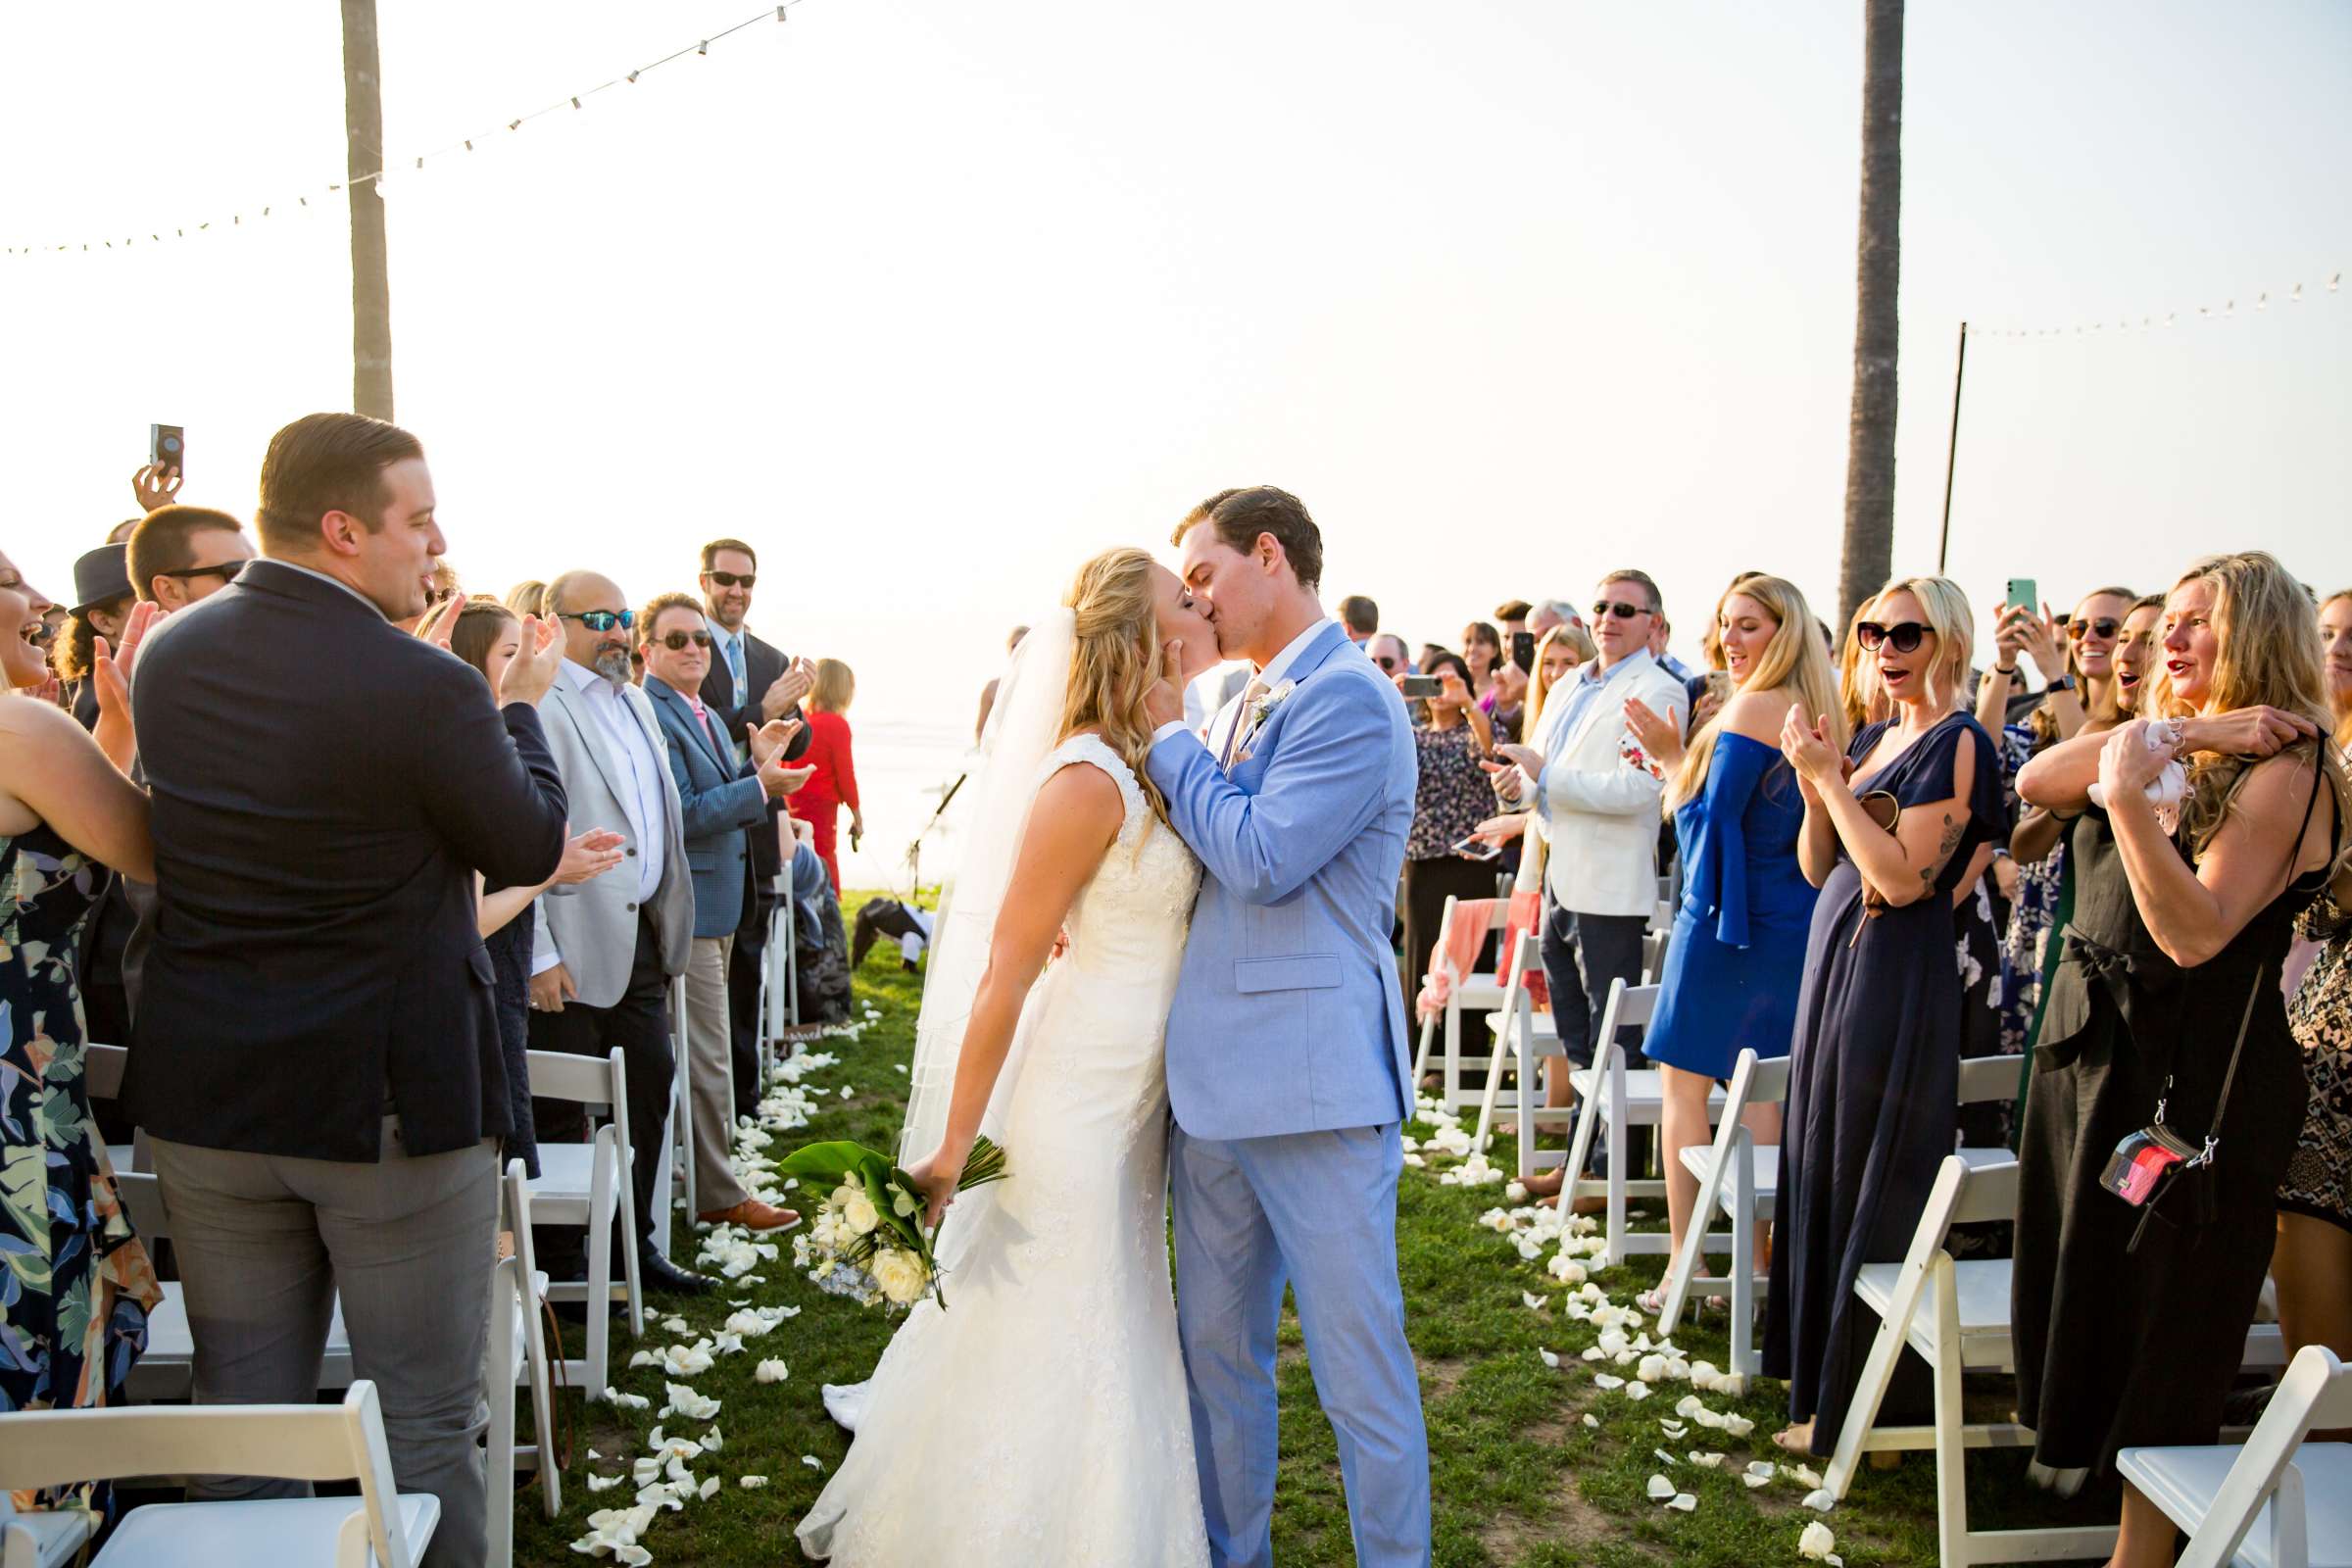
<path id="1" fill-rule="evenodd" d="M 753 898 L 750 844 L 774 837 L 771 802 L 809 783 L 816 769 L 788 769 L 783 719 L 748 731 L 755 762 L 736 762 L 722 717 L 701 698 L 710 672 L 710 630 L 703 609 L 682 592 L 666 592 L 637 611 L 644 651 L 644 696 L 654 703 L 670 748 L 677 804 L 687 827 L 687 867 L 694 872 L 694 957 L 687 959 L 687 1088 L 694 1114 L 696 1220 L 781 1229 L 800 1215 L 743 1192 L 727 1166 L 739 1100 L 729 1067 L 727 961 Z"/>

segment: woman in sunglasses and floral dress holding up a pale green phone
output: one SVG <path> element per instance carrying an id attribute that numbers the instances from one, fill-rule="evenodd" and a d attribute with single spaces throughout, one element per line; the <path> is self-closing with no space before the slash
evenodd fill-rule
<path id="1" fill-rule="evenodd" d="M 2004 724 L 2006 701 L 1997 698 L 2006 698 L 2009 670 L 2002 670 L 1999 658 L 1985 672 L 1978 693 L 1976 722 L 1999 738 L 2002 795 L 2009 799 L 2011 813 L 2018 816 L 2016 832 L 2009 835 L 2009 863 L 2016 867 L 2016 879 L 2004 889 L 2009 896 L 2009 929 L 2002 931 L 2004 1056 L 2030 1051 L 2034 1044 L 2049 933 L 2063 924 L 2065 898 L 2060 823 L 2049 811 L 2025 809 L 2018 802 L 2018 769 L 2067 736 L 2103 733 L 2124 722 L 2114 654 L 2122 646 L 2131 607 L 2133 592 L 2129 588 L 2093 588 L 2084 595 L 2063 628 L 2067 639 L 2065 675 L 2049 682 L 2042 701 L 2020 722 Z M 2060 658 L 2044 623 L 2016 604 L 2002 611 L 1999 649 L 2011 663 L 2016 661 L 2013 649 L 2027 649 L 2037 668 L 2042 658 Z"/>

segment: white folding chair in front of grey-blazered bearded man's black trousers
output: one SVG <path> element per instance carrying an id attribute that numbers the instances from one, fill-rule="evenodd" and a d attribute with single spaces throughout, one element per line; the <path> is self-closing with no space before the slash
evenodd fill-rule
<path id="1" fill-rule="evenodd" d="M 588 1143 L 541 1143 L 539 1178 L 529 1180 L 532 1213 L 541 1225 L 588 1227 L 588 1279 L 548 1284 L 548 1300 L 586 1302 L 588 1354 L 562 1363 L 564 1378 L 588 1399 L 612 1387 L 612 1302 L 628 1302 L 628 1333 L 644 1335 L 644 1291 L 637 1284 L 637 1192 L 628 1175 L 628 1065 L 614 1046 L 602 1060 L 564 1051 L 532 1051 L 532 1095 L 604 1105 L 612 1119 Z M 621 1279 L 612 1253 L 621 1248 Z"/>

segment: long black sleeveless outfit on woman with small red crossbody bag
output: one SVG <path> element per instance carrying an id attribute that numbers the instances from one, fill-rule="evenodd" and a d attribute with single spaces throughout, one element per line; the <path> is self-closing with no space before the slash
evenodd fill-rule
<path id="1" fill-rule="evenodd" d="M 2220 1432 L 2270 1269 L 2279 1178 L 2303 1131 L 2303 1051 L 2279 964 L 2296 914 L 2326 884 L 2324 870 L 2298 877 L 2227 947 L 2183 971 L 2140 922 L 2105 811 L 2084 811 L 2067 856 L 2074 919 L 2060 933 L 2025 1095 L 2011 1274 L 2018 1418 L 2053 1469 L 2105 1467 L 2119 1446 L 2213 1443 Z M 2147 1211 L 2103 1190 L 2100 1171 L 2154 1121 L 2159 1098 L 2164 1124 L 2187 1143 L 2213 1128 L 2239 1018 L 2246 1046 L 2213 1166 L 2173 1182 L 2133 1251 Z"/>

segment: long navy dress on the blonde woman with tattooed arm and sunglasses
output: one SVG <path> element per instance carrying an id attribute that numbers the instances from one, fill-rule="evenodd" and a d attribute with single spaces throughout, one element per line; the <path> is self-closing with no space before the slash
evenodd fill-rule
<path id="1" fill-rule="evenodd" d="M 1870 724 L 1856 762 L 1886 731 Z M 1813 931 L 1790 1041 L 1788 1131 L 1764 1302 L 1764 1373 L 1788 1380 L 1790 1420 L 1813 1420 L 1813 1453 L 1830 1453 L 1877 1333 L 1856 1307 L 1865 1262 L 1900 1262 L 1936 1171 L 1957 1135 L 1962 1056 L 1962 950 L 1952 889 L 1976 846 L 2004 832 L 2002 766 L 1966 715 L 1950 715 L 1891 764 L 1853 780 L 1886 790 L 1905 811 L 1952 799 L 1952 764 L 1969 748 L 1976 773 L 1955 816 L 1959 842 L 1936 891 L 1900 907 L 1863 910 L 1863 875 L 1844 844 L 1813 905 Z M 1926 1363 L 1903 1356 L 1886 1420 L 1926 1420 Z"/>

